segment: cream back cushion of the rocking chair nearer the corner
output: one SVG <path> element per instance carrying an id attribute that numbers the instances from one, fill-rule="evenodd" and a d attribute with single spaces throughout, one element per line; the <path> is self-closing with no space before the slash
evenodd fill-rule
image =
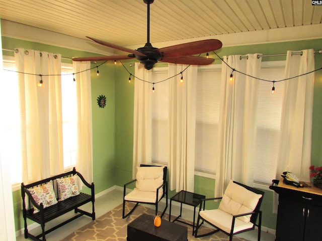
<path id="1" fill-rule="evenodd" d="M 139 191 L 154 192 L 155 201 L 156 189 L 164 182 L 163 169 L 164 167 L 137 167 L 135 189 Z M 159 191 L 159 195 L 162 195 L 163 189 L 160 188 Z"/>

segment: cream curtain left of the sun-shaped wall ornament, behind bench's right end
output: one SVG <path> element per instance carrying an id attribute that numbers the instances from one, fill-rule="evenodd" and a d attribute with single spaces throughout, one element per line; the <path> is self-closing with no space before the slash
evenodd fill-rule
<path id="1" fill-rule="evenodd" d="M 93 129 L 91 62 L 73 61 L 77 96 L 76 170 L 88 182 L 93 182 Z"/>

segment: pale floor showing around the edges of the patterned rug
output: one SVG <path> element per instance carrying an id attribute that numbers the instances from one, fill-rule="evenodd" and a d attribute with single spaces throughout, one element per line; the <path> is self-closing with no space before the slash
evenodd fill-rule
<path id="1" fill-rule="evenodd" d="M 103 215 L 104 213 L 108 212 L 109 210 L 113 209 L 114 207 L 118 206 L 119 204 L 122 203 L 122 197 L 123 197 L 123 190 L 121 190 L 120 188 L 116 188 L 112 191 L 110 191 L 109 193 L 102 195 L 98 198 L 96 198 L 95 200 L 95 212 L 96 212 L 96 217 L 99 217 L 101 215 Z M 173 202 L 173 206 L 172 206 L 172 213 L 179 213 L 180 212 L 180 206 L 175 205 L 176 202 Z M 170 202 L 169 202 L 170 204 Z M 88 204 L 86 204 L 88 205 Z M 159 210 L 162 210 L 162 205 L 160 204 Z M 150 206 L 150 205 L 149 205 Z M 190 209 L 190 206 L 186 206 L 187 208 L 185 208 L 185 205 L 183 206 L 183 218 L 185 219 L 192 219 L 193 217 L 193 209 Z M 178 210 L 176 210 L 176 208 Z M 91 210 L 91 205 L 89 205 L 89 209 Z M 178 212 L 176 212 L 178 211 Z M 167 209 L 167 212 L 169 212 L 169 206 Z M 72 215 L 73 213 L 70 212 L 69 215 Z M 68 213 L 65 214 L 64 217 L 58 217 L 54 220 L 52 220 L 49 223 L 46 223 L 46 229 L 50 228 L 51 226 L 53 226 L 54 223 L 59 222 L 60 220 L 65 220 L 66 217 L 68 216 Z M 82 216 L 79 217 L 65 225 L 63 225 L 62 227 L 48 233 L 46 235 L 46 240 L 47 241 L 60 241 L 63 240 L 63 238 L 65 236 L 67 236 L 69 233 L 71 233 L 73 230 L 76 230 L 82 226 L 84 226 L 85 224 L 87 224 L 88 222 L 92 221 L 92 219 L 88 216 Z M 30 232 L 34 233 L 34 231 L 36 231 L 36 233 L 40 233 L 40 228 L 37 227 L 33 230 L 29 229 Z M 253 231 L 249 231 L 249 232 L 245 232 L 245 233 L 241 233 L 238 234 L 241 237 L 245 237 L 248 240 L 251 241 L 255 241 L 257 240 L 257 230 L 253 230 Z M 22 240 L 27 240 L 25 239 L 24 235 L 19 235 L 17 236 L 17 241 L 22 241 Z M 31 239 L 28 239 L 31 240 Z M 274 241 L 275 240 L 275 235 L 271 234 L 271 233 L 267 233 L 267 232 L 262 232 L 261 233 L 261 241 Z"/>

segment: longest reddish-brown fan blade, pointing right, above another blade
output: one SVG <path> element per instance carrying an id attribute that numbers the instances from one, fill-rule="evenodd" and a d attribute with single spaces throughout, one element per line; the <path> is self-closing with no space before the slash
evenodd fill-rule
<path id="1" fill-rule="evenodd" d="M 187 55 L 195 55 L 211 52 L 220 49 L 222 43 L 217 39 L 200 40 L 185 44 L 173 45 L 165 48 L 156 49 L 161 57 L 173 58 Z"/>

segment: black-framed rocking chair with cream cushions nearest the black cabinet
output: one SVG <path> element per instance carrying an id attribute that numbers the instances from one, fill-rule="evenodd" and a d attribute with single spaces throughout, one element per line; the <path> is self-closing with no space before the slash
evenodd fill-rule
<path id="1" fill-rule="evenodd" d="M 206 198 L 203 202 L 209 200 L 220 200 L 217 209 L 202 210 L 200 205 L 197 229 L 195 237 L 203 237 L 218 231 L 229 235 L 229 241 L 232 236 L 255 229 L 258 226 L 258 241 L 261 239 L 262 211 L 260 210 L 264 192 L 244 184 L 230 181 L 222 197 Z M 257 218 L 259 217 L 258 224 Z M 200 234 L 201 224 L 206 223 L 215 229 Z"/>

